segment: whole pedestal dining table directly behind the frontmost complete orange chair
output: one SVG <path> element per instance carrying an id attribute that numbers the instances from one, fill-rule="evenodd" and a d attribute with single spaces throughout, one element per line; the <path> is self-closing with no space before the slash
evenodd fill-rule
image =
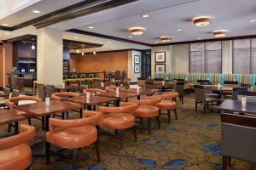
<path id="1" fill-rule="evenodd" d="M 15 109 L 20 111 L 26 111 L 30 116 L 43 117 L 45 133 L 49 131 L 49 117 L 56 113 L 80 110 L 80 116 L 82 116 L 82 105 L 73 104 L 71 102 L 50 100 L 49 105 L 46 105 L 45 101 L 27 104 L 27 105 L 15 105 Z M 38 142 L 37 144 L 32 145 L 32 154 L 33 156 L 45 156 L 45 140 L 44 142 Z"/>

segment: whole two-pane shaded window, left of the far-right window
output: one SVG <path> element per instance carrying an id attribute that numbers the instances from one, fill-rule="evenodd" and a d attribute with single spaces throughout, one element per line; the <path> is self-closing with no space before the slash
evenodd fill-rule
<path id="1" fill-rule="evenodd" d="M 221 42 L 190 44 L 190 73 L 221 73 Z"/>

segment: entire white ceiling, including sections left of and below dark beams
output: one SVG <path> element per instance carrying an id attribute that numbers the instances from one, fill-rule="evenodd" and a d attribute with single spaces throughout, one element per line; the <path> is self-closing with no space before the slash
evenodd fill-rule
<path id="1" fill-rule="evenodd" d="M 0 20 L 0 24 L 8 22 L 9 25 L 16 25 L 22 21 L 80 1 L 82 0 L 41 0 L 39 3 Z M 41 14 L 35 16 L 32 9 L 38 8 Z M 249 21 L 256 20 L 255 9 L 256 0 L 139 0 L 95 14 L 66 20 L 49 27 L 64 31 L 76 28 L 152 44 L 160 42 L 160 36 L 171 36 L 172 42 L 183 42 L 197 40 L 199 37 L 201 39 L 211 39 L 211 32 L 218 29 L 229 30 L 227 37 L 255 35 L 256 22 Z M 142 14 L 149 14 L 149 18 L 142 18 Z M 191 19 L 199 15 L 212 17 L 212 24 L 204 27 L 194 26 Z M 89 26 L 94 26 L 95 29 L 89 29 Z M 132 26 L 143 26 L 146 31 L 141 36 L 129 37 L 131 33 L 128 29 Z M 182 29 L 182 31 L 177 31 L 177 29 Z M 5 32 L 0 31 L 0 40 L 25 34 L 36 34 L 36 29 L 33 26 L 28 26 L 12 31 L 10 35 L 6 35 Z M 99 48 L 100 51 L 149 48 L 70 32 L 64 32 L 63 37 L 76 41 L 102 43 L 104 46 Z"/>

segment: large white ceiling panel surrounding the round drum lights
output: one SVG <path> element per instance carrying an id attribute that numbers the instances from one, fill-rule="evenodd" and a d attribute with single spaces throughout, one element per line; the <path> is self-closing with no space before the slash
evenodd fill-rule
<path id="1" fill-rule="evenodd" d="M 130 27 L 143 26 L 146 28 L 145 33 L 132 37 L 132 40 L 155 43 L 160 42 L 160 36 L 171 36 L 172 42 L 183 42 L 198 37 L 212 38 L 211 32 L 219 29 L 229 30 L 227 37 L 256 34 L 256 22 L 249 22 L 256 20 L 255 9 L 255 0 L 140 0 L 50 27 L 76 27 L 84 31 L 128 38 L 131 35 L 128 31 Z M 142 14 L 150 16 L 142 18 Z M 191 19 L 199 15 L 212 17 L 212 24 L 194 26 Z M 90 30 L 89 26 L 95 29 Z"/>

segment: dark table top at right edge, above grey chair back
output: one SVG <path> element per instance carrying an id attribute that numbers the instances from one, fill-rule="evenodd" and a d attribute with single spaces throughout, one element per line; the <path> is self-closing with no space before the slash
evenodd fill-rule
<path id="1" fill-rule="evenodd" d="M 216 108 L 219 111 L 239 112 L 256 115 L 255 103 L 247 102 L 246 107 L 241 107 L 241 101 L 233 99 L 225 99 L 223 103 Z"/>

